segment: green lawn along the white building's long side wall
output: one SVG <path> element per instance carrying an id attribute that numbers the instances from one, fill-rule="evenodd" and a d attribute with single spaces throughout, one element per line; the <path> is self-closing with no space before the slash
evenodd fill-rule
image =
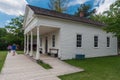
<path id="1" fill-rule="evenodd" d="M 60 76 L 62 80 L 120 80 L 120 56 L 66 60 L 84 72 Z"/>

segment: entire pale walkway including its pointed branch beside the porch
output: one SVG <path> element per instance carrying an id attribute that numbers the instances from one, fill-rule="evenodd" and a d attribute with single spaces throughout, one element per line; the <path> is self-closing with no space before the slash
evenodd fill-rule
<path id="1" fill-rule="evenodd" d="M 53 69 L 46 70 L 24 55 L 8 54 L 0 80 L 60 80 L 57 76 L 83 71 L 57 58 L 43 56 L 41 60 L 50 64 Z"/>

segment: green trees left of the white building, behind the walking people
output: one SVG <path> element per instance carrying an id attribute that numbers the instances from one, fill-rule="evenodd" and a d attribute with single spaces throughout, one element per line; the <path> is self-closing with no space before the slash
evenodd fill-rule
<path id="1" fill-rule="evenodd" d="M 8 45 L 16 44 L 18 49 L 23 49 L 23 16 L 11 19 L 5 26 L 0 28 L 0 50 L 6 50 Z"/>

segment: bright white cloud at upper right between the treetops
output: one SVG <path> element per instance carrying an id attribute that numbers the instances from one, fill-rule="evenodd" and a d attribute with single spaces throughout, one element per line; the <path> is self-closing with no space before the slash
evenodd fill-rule
<path id="1" fill-rule="evenodd" d="M 113 4 L 115 1 L 116 0 L 105 0 L 105 2 L 98 7 L 97 14 L 109 10 L 110 5 Z"/>

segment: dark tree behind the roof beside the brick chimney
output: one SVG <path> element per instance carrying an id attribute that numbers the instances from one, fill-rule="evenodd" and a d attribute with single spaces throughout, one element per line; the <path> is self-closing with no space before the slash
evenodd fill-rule
<path id="1" fill-rule="evenodd" d="M 94 10 L 90 9 L 91 9 L 90 5 L 81 4 L 74 15 L 80 16 L 80 13 L 82 13 L 83 14 L 82 17 L 89 17 L 91 14 L 95 13 L 95 9 Z"/>

